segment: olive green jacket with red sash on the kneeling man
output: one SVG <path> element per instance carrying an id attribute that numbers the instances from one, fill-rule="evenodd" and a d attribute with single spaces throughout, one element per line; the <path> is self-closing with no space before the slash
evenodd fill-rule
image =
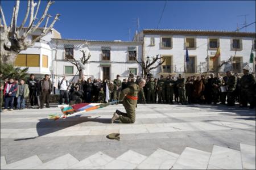
<path id="1" fill-rule="evenodd" d="M 138 98 L 138 93 L 141 91 L 139 85 L 136 83 L 131 84 L 129 87 L 122 90 L 120 94 L 120 101 L 123 101 L 123 105 L 129 105 L 131 108 L 136 107 L 137 100 L 130 98 Z"/>

